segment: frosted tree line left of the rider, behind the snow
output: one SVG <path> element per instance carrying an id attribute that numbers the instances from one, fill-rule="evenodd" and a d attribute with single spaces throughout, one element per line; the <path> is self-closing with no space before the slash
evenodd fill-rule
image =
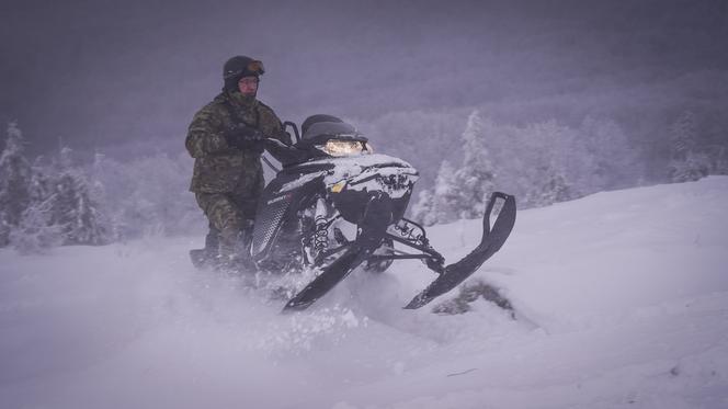
<path id="1" fill-rule="evenodd" d="M 31 161 L 18 124 L 8 125 L 0 156 L 0 247 L 33 253 L 200 228 L 186 155 L 122 163 L 95 154 L 87 166 L 73 155 L 61 147 Z"/>

